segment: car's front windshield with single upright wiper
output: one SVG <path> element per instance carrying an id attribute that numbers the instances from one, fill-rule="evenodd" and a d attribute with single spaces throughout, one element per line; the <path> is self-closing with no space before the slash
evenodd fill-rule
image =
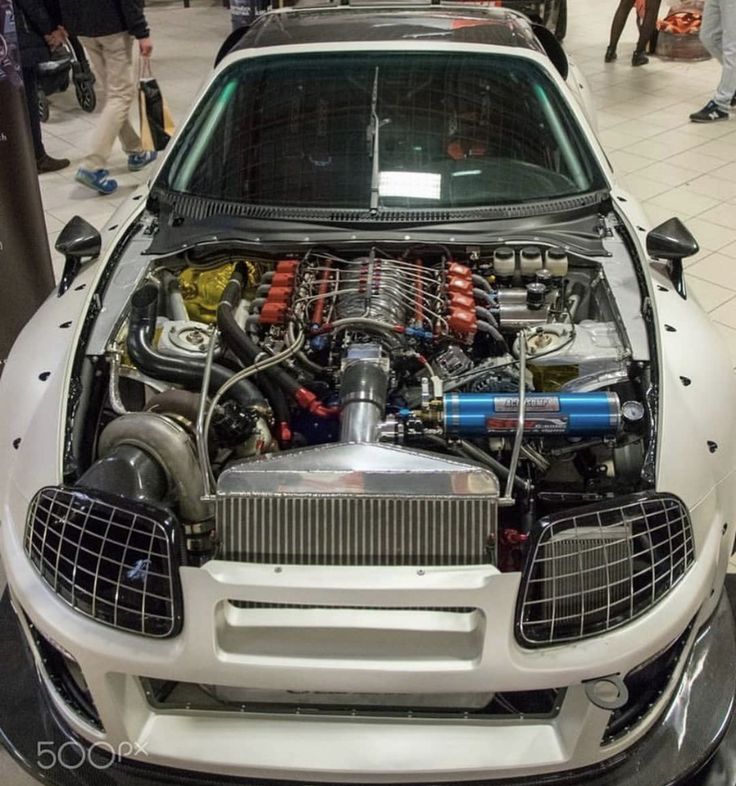
<path id="1" fill-rule="evenodd" d="M 354 209 L 492 206 L 605 185 L 541 68 L 458 52 L 235 63 L 158 182 L 251 205 Z"/>

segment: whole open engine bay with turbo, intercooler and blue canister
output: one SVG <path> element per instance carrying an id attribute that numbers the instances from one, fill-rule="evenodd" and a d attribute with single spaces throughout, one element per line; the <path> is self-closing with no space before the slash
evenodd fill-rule
<path id="1" fill-rule="evenodd" d="M 170 506 L 197 559 L 517 569 L 540 515 L 644 483 L 630 356 L 562 248 L 195 249 L 111 336 L 80 482 Z"/>

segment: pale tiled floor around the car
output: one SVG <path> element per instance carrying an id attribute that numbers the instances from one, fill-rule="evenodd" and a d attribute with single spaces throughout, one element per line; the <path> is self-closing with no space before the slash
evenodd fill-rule
<path id="1" fill-rule="evenodd" d="M 569 0 L 567 49 L 588 77 L 598 107 L 601 142 L 619 176 L 641 200 L 652 222 L 678 215 L 700 242 L 701 252 L 688 260 L 688 283 L 723 335 L 736 365 L 736 116 L 714 125 L 688 120 L 689 113 L 711 97 L 719 77 L 715 62 L 652 58 L 649 65 L 632 68 L 628 55 L 636 39 L 633 17 L 619 45 L 619 60 L 605 64 L 608 26 L 617 2 Z M 146 13 L 155 45 L 154 71 L 175 120 L 181 121 L 229 31 L 229 16 L 219 0 L 192 0 L 189 9 L 178 2 L 149 0 Z M 40 178 L 53 247 L 71 216 L 79 213 L 101 226 L 149 172 L 127 172 L 118 150 L 110 161 L 110 170 L 121 183 L 114 195 L 100 197 L 74 184 L 72 175 L 84 155 L 94 117 L 77 107 L 72 91 L 52 96 L 51 105 L 44 126 L 47 150 L 72 160 L 70 169 Z M 57 271 L 60 261 L 54 253 Z M 3 584 L 0 567 L 0 587 Z M 33 781 L 2 752 L 0 782 L 20 786 Z"/>

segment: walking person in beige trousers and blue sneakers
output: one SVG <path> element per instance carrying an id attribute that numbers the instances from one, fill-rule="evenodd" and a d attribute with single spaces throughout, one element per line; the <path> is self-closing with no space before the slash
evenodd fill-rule
<path id="1" fill-rule="evenodd" d="M 118 187 L 105 164 L 119 138 L 128 155 L 128 169 L 137 172 L 150 164 L 155 152 L 144 152 L 128 115 L 136 95 L 133 76 L 133 42 L 141 57 L 153 51 L 143 0 L 60 0 L 62 24 L 87 50 L 97 85 L 105 103 L 90 138 L 89 155 L 75 180 L 100 194 Z"/>

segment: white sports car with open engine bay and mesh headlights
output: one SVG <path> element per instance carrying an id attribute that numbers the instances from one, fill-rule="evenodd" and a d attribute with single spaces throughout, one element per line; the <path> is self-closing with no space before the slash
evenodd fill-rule
<path id="1" fill-rule="evenodd" d="M 268 13 L 58 247 L 0 544 L 80 766 L 656 786 L 713 752 L 734 376 L 551 33 Z"/>

